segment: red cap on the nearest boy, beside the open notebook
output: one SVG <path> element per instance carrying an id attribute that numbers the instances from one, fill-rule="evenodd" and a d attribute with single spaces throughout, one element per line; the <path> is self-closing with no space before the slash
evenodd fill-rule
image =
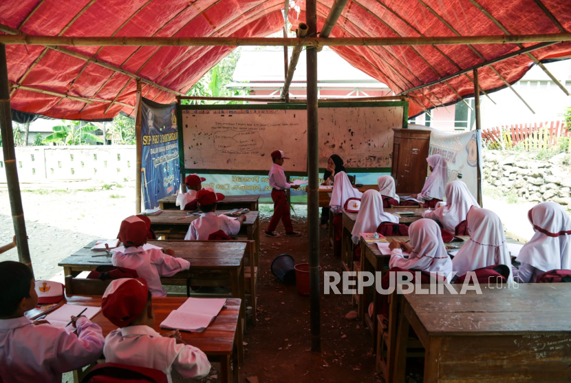
<path id="1" fill-rule="evenodd" d="M 101 300 L 105 318 L 118 327 L 126 327 L 139 318 L 147 305 L 149 288 L 143 278 L 112 280 Z"/>

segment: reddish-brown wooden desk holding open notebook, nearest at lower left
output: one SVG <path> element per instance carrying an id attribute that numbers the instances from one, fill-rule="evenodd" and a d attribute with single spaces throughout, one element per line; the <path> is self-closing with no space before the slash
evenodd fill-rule
<path id="1" fill-rule="evenodd" d="M 153 298 L 155 311 L 155 327 L 158 333 L 166 333 L 169 330 L 160 329 L 160 323 L 166 319 L 171 311 L 180 307 L 186 298 Z M 101 306 L 101 297 L 95 296 L 69 296 L 67 304 L 81 304 L 85 306 Z M 230 359 L 234 363 L 233 382 L 238 380 L 238 342 L 241 344 L 241 335 L 238 329 L 240 308 L 244 306 L 241 300 L 231 298 L 226 300 L 226 307 L 220 311 L 215 320 L 202 333 L 187 333 L 181 331 L 182 339 L 202 350 L 211 362 L 220 362 L 221 382 L 230 382 Z M 103 336 L 107 336 L 117 327 L 109 322 L 103 312 L 97 313 L 91 322 L 98 324 L 103 329 Z"/>

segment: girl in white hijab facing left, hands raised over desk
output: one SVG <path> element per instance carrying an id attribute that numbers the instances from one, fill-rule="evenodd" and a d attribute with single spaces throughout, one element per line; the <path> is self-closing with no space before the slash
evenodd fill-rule
<path id="1" fill-rule="evenodd" d="M 392 240 L 389 244 L 391 260 L 389 267 L 401 269 L 418 269 L 429 273 L 442 273 L 444 278 L 452 272 L 452 260 L 446 251 L 440 227 L 433 220 L 421 218 L 413 222 L 409 228 L 410 245 L 406 242 Z M 402 250 L 411 255 L 409 259 L 402 256 Z"/>

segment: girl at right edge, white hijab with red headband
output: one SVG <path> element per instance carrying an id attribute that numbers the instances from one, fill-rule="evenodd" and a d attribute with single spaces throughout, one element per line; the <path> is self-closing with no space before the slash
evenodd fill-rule
<path id="1" fill-rule="evenodd" d="M 535 234 L 516 258 L 521 263 L 517 282 L 535 282 L 546 271 L 571 269 L 571 218 L 563 207 L 543 202 L 529 211 L 528 218 Z"/>

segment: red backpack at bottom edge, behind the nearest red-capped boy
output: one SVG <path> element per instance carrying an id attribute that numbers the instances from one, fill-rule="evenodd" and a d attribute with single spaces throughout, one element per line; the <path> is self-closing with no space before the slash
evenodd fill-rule
<path id="1" fill-rule="evenodd" d="M 127 366 L 118 363 L 100 363 L 81 383 L 168 383 L 166 374 L 147 367 Z"/>

